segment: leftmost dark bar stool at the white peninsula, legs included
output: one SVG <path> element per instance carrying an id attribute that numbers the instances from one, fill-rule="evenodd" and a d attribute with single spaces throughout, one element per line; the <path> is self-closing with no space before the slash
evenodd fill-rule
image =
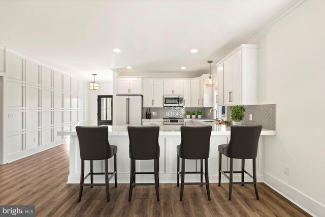
<path id="1" fill-rule="evenodd" d="M 108 127 L 76 127 L 80 147 L 80 191 L 78 202 L 81 201 L 84 186 L 105 186 L 107 202 L 110 201 L 109 181 L 115 176 L 115 188 L 117 188 L 116 152 L 117 146 L 108 142 Z M 108 159 L 114 156 L 114 172 L 108 172 Z M 85 175 L 85 160 L 90 161 L 90 172 Z M 105 160 L 105 173 L 93 172 L 93 161 Z M 93 183 L 93 175 L 104 175 L 105 183 Z M 109 177 L 108 175 L 111 174 Z M 84 180 L 90 175 L 90 184 L 84 184 Z"/>

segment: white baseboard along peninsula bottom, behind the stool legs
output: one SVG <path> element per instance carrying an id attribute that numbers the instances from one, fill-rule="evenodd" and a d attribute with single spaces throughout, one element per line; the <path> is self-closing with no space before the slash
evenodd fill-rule
<path id="1" fill-rule="evenodd" d="M 234 181 L 241 181 L 241 175 L 240 174 L 234 174 Z M 205 180 L 203 178 L 203 180 Z M 251 180 L 249 176 L 245 175 L 245 180 Z M 257 174 L 257 180 L 258 182 L 263 182 L 263 173 Z M 153 175 L 137 175 L 137 182 L 154 182 Z M 186 174 L 185 175 L 185 182 L 199 182 L 200 181 L 200 175 L 199 174 Z M 85 180 L 85 183 L 89 183 L 90 178 L 88 177 Z M 102 175 L 94 175 L 94 182 L 95 183 L 104 183 L 105 178 Z M 110 183 L 114 182 L 114 178 L 110 180 Z M 130 182 L 130 176 L 129 174 L 119 174 L 117 173 L 117 182 L 118 183 L 129 183 Z M 160 183 L 177 183 L 177 175 L 175 174 L 159 174 L 159 182 Z M 218 174 L 209 174 L 209 182 L 210 183 L 217 183 L 218 182 Z M 229 180 L 221 175 L 221 182 L 229 182 Z M 67 184 L 76 184 L 80 183 L 80 174 L 71 174 L 68 176 L 68 182 Z"/>

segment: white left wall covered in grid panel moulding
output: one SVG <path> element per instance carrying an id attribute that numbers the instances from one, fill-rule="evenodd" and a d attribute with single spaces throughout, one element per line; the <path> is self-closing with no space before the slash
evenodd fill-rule
<path id="1" fill-rule="evenodd" d="M 57 131 L 89 122 L 85 83 L 6 51 L 4 76 L 4 163 L 64 142 Z"/>

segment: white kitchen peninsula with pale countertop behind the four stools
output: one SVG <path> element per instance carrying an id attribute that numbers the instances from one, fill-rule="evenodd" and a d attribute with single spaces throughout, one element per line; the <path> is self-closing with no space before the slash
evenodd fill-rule
<path id="1" fill-rule="evenodd" d="M 117 181 L 118 183 L 129 182 L 130 159 L 129 159 L 129 140 L 126 126 L 108 126 L 109 128 L 109 142 L 111 145 L 117 145 Z M 70 171 L 67 183 L 79 183 L 80 181 L 80 154 L 79 142 L 77 133 L 72 131 L 57 132 L 58 136 L 70 137 Z M 264 172 L 264 136 L 276 135 L 276 131 L 262 129 L 261 137 L 259 139 L 258 153 L 257 153 L 257 180 L 263 181 Z M 225 125 L 213 125 L 211 139 L 210 139 L 210 158 L 209 158 L 209 179 L 210 182 L 217 182 L 218 179 L 218 145 L 226 144 L 230 139 L 230 127 Z M 180 127 L 179 126 L 163 126 L 160 127 L 159 145 L 159 180 L 161 183 L 176 183 L 177 180 L 177 153 L 176 146 L 181 142 Z M 226 162 L 228 159 L 222 157 L 222 161 Z M 140 172 L 153 171 L 153 160 L 137 161 L 136 170 Z M 251 171 L 252 165 L 250 160 L 246 160 L 246 170 Z M 223 163 L 223 170 L 226 170 L 228 164 Z M 200 163 L 198 160 L 186 160 L 187 171 L 199 171 Z M 234 170 L 241 167 L 241 161 L 234 159 Z M 94 172 L 102 172 L 104 170 L 102 161 L 94 161 Z M 109 171 L 113 170 L 113 159 L 109 160 Z M 85 163 L 85 173 L 89 172 L 89 163 Z M 223 179 L 224 178 L 224 179 Z M 249 178 L 249 177 L 247 177 Z M 240 174 L 234 174 L 234 180 L 240 179 Z M 89 179 L 90 180 L 90 179 Z M 89 182 L 89 180 L 85 180 Z M 197 174 L 186 175 L 186 181 L 198 181 Z M 153 181 L 152 175 L 139 175 L 137 177 L 139 182 Z M 221 181 L 226 181 L 222 177 Z M 94 176 L 94 182 L 104 182 L 103 176 Z"/>

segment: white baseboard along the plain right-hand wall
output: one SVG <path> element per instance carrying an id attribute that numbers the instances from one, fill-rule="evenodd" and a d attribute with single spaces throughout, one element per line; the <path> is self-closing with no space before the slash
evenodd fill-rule
<path id="1" fill-rule="evenodd" d="M 325 205 L 320 204 L 267 172 L 264 172 L 264 183 L 312 216 L 325 216 Z"/>

